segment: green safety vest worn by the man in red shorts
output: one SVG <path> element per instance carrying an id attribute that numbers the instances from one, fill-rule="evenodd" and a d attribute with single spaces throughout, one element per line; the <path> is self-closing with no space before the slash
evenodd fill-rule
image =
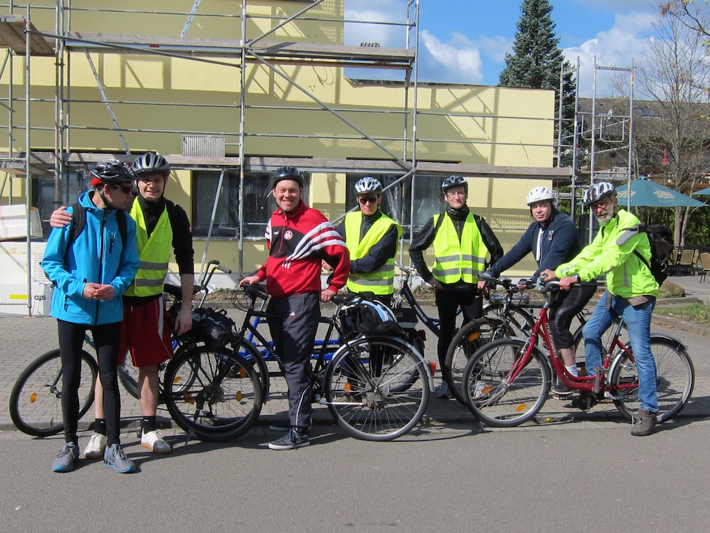
<path id="1" fill-rule="evenodd" d="M 168 262 L 173 246 L 173 228 L 170 227 L 168 209 L 160 214 L 151 237 L 148 237 L 146 218 L 138 200 L 133 202 L 129 212 L 136 221 L 136 244 L 141 257 L 133 283 L 126 291 L 126 296 L 156 296 L 163 294 L 165 274 L 168 274 Z"/>

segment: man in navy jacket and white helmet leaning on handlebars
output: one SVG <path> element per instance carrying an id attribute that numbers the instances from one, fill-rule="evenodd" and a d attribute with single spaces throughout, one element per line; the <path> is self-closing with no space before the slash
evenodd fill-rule
<path id="1" fill-rule="evenodd" d="M 501 272 L 509 269 L 532 252 L 537 262 L 537 270 L 532 274 L 533 280 L 540 276 L 540 272 L 550 269 L 555 270 L 562 263 L 571 261 L 581 251 L 581 242 L 577 227 L 572 219 L 555 207 L 555 193 L 550 188 L 535 187 L 528 193 L 527 199 L 530 215 L 534 219 L 532 224 L 520 237 L 510 252 L 498 259 L 484 276 L 497 278 Z M 483 289 L 486 281 L 479 281 L 479 288 Z M 522 289 L 524 285 L 520 285 Z M 550 307 L 550 329 L 559 355 L 562 357 L 564 367 L 573 376 L 579 375 L 577 361 L 574 357 L 574 339 L 569 333 L 572 319 L 580 311 L 596 291 L 596 281 L 574 285 L 572 291 L 557 291 L 553 296 L 553 305 Z M 557 382 L 552 387 L 552 392 L 557 396 L 568 396 L 572 393 L 562 382 Z"/>

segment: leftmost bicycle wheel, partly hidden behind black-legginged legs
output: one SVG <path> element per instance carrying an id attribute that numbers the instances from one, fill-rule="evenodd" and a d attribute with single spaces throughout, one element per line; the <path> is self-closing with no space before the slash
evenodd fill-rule
<path id="1" fill-rule="evenodd" d="M 79 418 L 94 403 L 98 366 L 94 357 L 81 351 Z M 64 429 L 62 417 L 62 359 L 59 349 L 38 357 L 23 370 L 10 393 L 10 418 L 28 435 L 46 437 Z"/>

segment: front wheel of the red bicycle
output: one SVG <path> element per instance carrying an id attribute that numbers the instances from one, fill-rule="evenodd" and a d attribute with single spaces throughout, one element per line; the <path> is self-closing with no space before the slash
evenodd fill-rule
<path id="1" fill-rule="evenodd" d="M 525 346 L 522 340 L 494 340 L 476 351 L 466 365 L 466 405 L 488 426 L 518 426 L 545 404 L 551 374 L 540 350 L 533 348 L 528 364 L 514 379 L 510 376 L 513 362 L 523 357 Z"/>

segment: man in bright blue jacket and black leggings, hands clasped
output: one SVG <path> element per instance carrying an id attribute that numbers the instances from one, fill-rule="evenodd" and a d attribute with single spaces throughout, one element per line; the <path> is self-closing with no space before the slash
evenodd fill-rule
<path id="1" fill-rule="evenodd" d="M 89 166 L 89 173 L 94 189 L 80 195 L 78 203 L 85 212 L 82 230 L 74 233 L 72 225 L 53 229 L 42 261 L 45 274 L 55 284 L 51 314 L 58 324 L 66 442 L 52 470 L 70 472 L 79 459 L 80 352 L 88 329 L 94 337 L 104 387 L 108 437 L 104 463 L 116 472 L 128 473 L 135 471 L 136 465 L 126 457 L 119 439 L 121 399 L 116 361 L 124 318 L 121 295 L 136 275 L 140 260 L 136 223 L 119 211 L 133 200 L 136 175 L 115 160 L 95 163 Z M 125 219 L 125 237 L 119 216 Z"/>

